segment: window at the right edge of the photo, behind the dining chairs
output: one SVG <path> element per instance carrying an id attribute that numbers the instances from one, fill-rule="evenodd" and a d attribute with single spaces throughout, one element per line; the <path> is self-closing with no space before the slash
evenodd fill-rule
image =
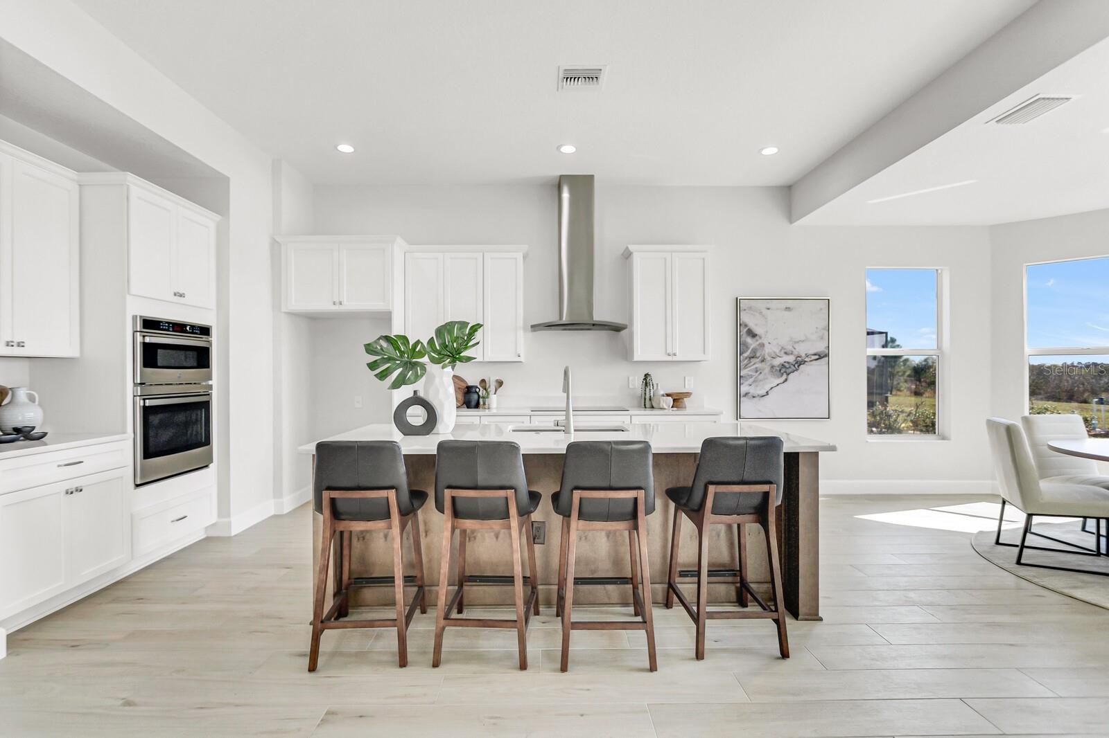
<path id="1" fill-rule="evenodd" d="M 1109 257 L 1025 267 L 1028 411 L 1109 435 Z"/>

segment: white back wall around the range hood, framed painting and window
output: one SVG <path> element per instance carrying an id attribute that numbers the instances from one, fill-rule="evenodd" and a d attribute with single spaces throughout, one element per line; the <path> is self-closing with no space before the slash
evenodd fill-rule
<path id="1" fill-rule="evenodd" d="M 525 260 L 525 322 L 558 310 L 557 203 L 554 185 L 316 187 L 319 233 L 397 233 L 410 244 L 528 244 Z M 633 402 L 629 375 L 650 371 L 664 389 L 694 381 L 694 400 L 735 417 L 735 298 L 830 296 L 832 298 L 832 420 L 779 422 L 775 427 L 826 439 L 823 475 L 844 491 L 914 489 L 975 492 L 990 475 L 981 419 L 989 396 L 981 367 L 989 363 L 990 248 L 984 227 L 841 228 L 792 226 L 785 188 L 633 187 L 597 183 L 596 315 L 628 320 L 628 244 L 713 244 L 712 359 L 678 365 L 627 360 L 627 334 L 528 332 L 523 363 L 469 365 L 467 378 L 505 379 L 502 403 L 556 396 L 562 366 L 574 368 L 582 394 Z M 950 379 L 945 426 L 949 440 L 867 441 L 864 372 L 865 289 L 868 266 L 944 267 L 950 276 L 950 311 L 973 316 L 949 332 Z M 350 393 L 352 365 L 317 366 L 326 392 Z M 362 371 L 366 371 L 362 369 Z M 945 369 L 942 368 L 942 372 Z M 368 373 L 368 372 L 367 372 Z M 966 379 L 966 381 L 964 381 Z M 387 418 L 387 413 L 381 413 Z M 849 484 L 851 480 L 867 480 Z M 912 484 L 908 486 L 913 486 Z"/>

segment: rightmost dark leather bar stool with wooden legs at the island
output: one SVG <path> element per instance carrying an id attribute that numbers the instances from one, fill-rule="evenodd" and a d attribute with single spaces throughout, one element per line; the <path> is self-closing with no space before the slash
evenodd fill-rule
<path id="1" fill-rule="evenodd" d="M 670 575 L 667 580 L 667 607 L 674 597 L 696 624 L 696 658 L 704 658 L 705 622 L 718 618 L 764 617 L 777 626 L 777 647 L 782 658 L 790 657 L 785 633 L 785 611 L 782 598 L 782 565 L 775 524 L 776 508 L 782 503 L 782 439 L 776 437 L 708 438 L 701 443 L 701 458 L 693 474 L 692 486 L 674 486 L 667 496 L 674 503 L 674 530 L 670 540 Z M 682 516 L 693 521 L 698 531 L 696 571 L 678 571 L 678 542 Z M 757 523 L 766 536 L 766 558 L 770 562 L 774 607 L 755 594 L 747 583 L 746 530 Z M 735 525 L 739 537 L 739 568 L 709 568 L 709 527 Z M 696 577 L 696 608 L 678 588 L 679 577 Z M 710 611 L 709 583 L 735 583 L 736 601 L 742 607 L 749 596 L 760 611 Z"/>

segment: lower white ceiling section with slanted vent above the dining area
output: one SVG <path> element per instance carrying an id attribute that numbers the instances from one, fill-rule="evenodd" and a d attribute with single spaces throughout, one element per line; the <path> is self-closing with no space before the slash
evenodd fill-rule
<path id="1" fill-rule="evenodd" d="M 892 164 L 804 223 L 984 225 L 1109 207 L 1107 70 L 1109 40 Z M 1025 125 L 990 123 L 1037 94 L 1077 96 Z"/>

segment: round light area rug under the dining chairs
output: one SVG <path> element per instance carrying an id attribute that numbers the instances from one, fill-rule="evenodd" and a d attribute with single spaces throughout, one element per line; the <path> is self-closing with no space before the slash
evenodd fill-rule
<path id="1" fill-rule="evenodd" d="M 1006 515 L 1008 519 L 1008 515 Z M 1037 521 L 1032 530 L 1056 539 L 1077 543 L 1078 545 L 1091 549 L 1093 546 L 1093 534 L 1082 533 L 1079 529 L 1081 521 L 1067 520 L 1065 522 Z M 1024 521 L 1016 525 L 1006 521 L 1006 526 L 1001 530 L 1001 541 L 1005 543 L 1018 543 L 1020 541 L 1020 526 Z M 1093 522 L 1090 522 L 1090 530 L 1093 530 Z M 1105 525 L 1102 524 L 1102 531 Z M 1097 574 L 1076 574 L 1072 572 L 1060 572 L 1054 568 L 1037 568 L 1035 566 L 1017 565 L 1017 550 L 1008 546 L 994 544 L 996 530 L 981 531 L 976 533 L 970 540 L 974 550 L 986 561 L 1000 566 L 1005 571 L 1016 574 L 1022 580 L 1028 580 L 1041 587 L 1058 592 L 1059 594 L 1088 602 L 1109 609 L 1109 576 L 1098 576 Z M 1037 546 L 1058 547 L 1059 553 L 1054 551 L 1029 551 L 1025 550 L 1026 562 L 1034 564 L 1050 564 L 1052 566 L 1070 566 L 1071 568 L 1087 568 L 1093 572 L 1105 572 L 1109 574 L 1109 556 L 1081 556 L 1065 553 L 1067 546 L 1048 541 L 1039 536 L 1029 535 L 1028 543 Z M 1102 544 L 1103 545 L 1103 544 Z"/>

